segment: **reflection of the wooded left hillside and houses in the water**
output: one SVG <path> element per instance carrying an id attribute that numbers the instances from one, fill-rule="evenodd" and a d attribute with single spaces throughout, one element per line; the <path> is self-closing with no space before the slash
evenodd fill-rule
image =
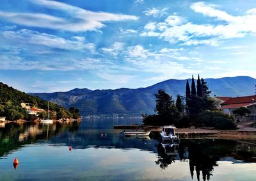
<path id="1" fill-rule="evenodd" d="M 26 144 L 43 141 L 65 131 L 76 132 L 78 129 L 79 122 L 56 122 L 51 125 L 34 122 L 6 123 L 0 128 L 0 158 L 5 153 L 10 153 L 10 150 L 19 150 Z"/>

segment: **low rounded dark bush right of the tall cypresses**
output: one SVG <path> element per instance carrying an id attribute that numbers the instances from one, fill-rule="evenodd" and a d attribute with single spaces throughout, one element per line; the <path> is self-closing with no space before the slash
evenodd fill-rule
<path id="1" fill-rule="evenodd" d="M 221 111 L 202 111 L 198 116 L 198 125 L 215 129 L 236 129 L 234 118 Z"/>

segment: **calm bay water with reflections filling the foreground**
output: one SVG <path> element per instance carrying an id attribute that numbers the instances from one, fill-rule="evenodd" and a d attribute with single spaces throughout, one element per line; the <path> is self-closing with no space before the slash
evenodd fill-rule
<path id="1" fill-rule="evenodd" d="M 1 124 L 0 180 L 256 180 L 256 145 L 216 139 L 168 145 L 113 130 L 131 123 L 140 120 Z"/>

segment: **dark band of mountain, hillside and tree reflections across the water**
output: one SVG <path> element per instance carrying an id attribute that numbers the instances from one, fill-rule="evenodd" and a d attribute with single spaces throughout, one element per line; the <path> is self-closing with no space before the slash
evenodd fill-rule
<path id="1" fill-rule="evenodd" d="M 179 144 L 161 143 L 159 139 L 154 138 L 124 138 L 120 134 L 123 130 L 113 129 L 113 125 L 134 122 L 140 123 L 140 120 L 83 120 L 51 125 L 5 124 L 0 127 L 0 168 L 1 159 L 8 157 L 9 154 L 26 150 L 29 145 L 41 143 L 49 144 L 47 146 L 72 146 L 72 152 L 105 148 L 124 152 L 139 150 L 154 153 L 156 167 L 167 170 L 169 166 L 175 166 L 176 162 L 184 162 L 190 171 L 187 174 L 193 180 L 210 180 L 214 177 L 214 169 L 223 161 L 256 162 L 256 146 L 250 143 L 221 139 L 182 139 Z M 130 159 L 133 159 L 132 155 Z M 22 166 L 19 166 L 20 168 Z"/>

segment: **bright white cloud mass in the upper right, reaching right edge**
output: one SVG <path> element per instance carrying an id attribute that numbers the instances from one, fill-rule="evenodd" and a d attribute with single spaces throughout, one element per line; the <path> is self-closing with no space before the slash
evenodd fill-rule
<path id="1" fill-rule="evenodd" d="M 141 36 L 155 36 L 170 43 L 181 42 L 182 45 L 216 46 L 230 38 L 255 35 L 256 9 L 248 10 L 243 16 L 233 16 L 218 10 L 219 7 L 205 2 L 191 4 L 191 9 L 196 13 L 216 17 L 218 24 L 193 24 L 186 17 L 174 14 L 163 22 L 148 22 Z"/>

